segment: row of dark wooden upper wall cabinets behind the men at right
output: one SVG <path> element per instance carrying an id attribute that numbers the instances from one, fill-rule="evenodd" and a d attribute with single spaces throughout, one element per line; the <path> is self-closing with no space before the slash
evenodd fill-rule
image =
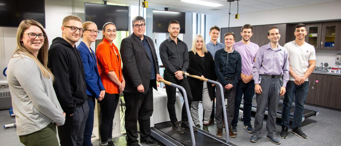
<path id="1" fill-rule="evenodd" d="M 307 35 L 305 41 L 315 47 L 315 50 L 341 50 L 341 22 L 329 21 L 321 23 L 305 23 L 307 26 Z M 251 42 L 258 46 L 268 44 L 270 41 L 267 37 L 268 29 L 277 27 L 281 33 L 279 44 L 284 46 L 285 43 L 295 40 L 294 31 L 296 24 L 269 24 L 252 26 L 253 35 Z M 221 28 L 221 42 L 224 43 L 224 34 L 228 31 L 233 32 L 236 42 L 242 39 L 240 35 L 241 27 Z"/>

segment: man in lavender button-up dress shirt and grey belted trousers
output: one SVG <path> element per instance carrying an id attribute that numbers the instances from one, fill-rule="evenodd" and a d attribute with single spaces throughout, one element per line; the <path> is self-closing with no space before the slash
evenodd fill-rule
<path id="1" fill-rule="evenodd" d="M 257 142 L 263 128 L 265 108 L 268 106 L 266 138 L 272 143 L 280 144 L 276 137 L 276 117 L 280 96 L 285 93 L 289 79 L 288 53 L 278 44 L 281 35 L 277 27 L 268 30 L 270 43 L 258 49 L 252 75 L 255 82 L 257 110 L 251 142 Z"/>

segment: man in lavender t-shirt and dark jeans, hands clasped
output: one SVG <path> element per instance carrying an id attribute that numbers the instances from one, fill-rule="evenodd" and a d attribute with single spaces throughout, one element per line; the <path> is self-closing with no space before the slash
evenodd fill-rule
<path id="1" fill-rule="evenodd" d="M 244 129 L 249 133 L 252 133 L 251 125 L 251 107 L 252 97 L 254 95 L 254 81 L 252 78 L 252 67 L 254 59 L 257 54 L 259 46 L 255 43 L 250 42 L 252 36 L 252 26 L 249 24 L 244 25 L 241 28 L 240 35 L 242 40 L 233 44 L 233 48 L 241 55 L 241 75 L 239 78 L 236 97 L 235 97 L 235 110 L 234 118 L 232 120 L 231 130 L 237 134 L 237 123 L 239 116 L 239 106 L 241 103 L 241 97 L 244 95 L 244 107 L 243 107 L 243 122 Z"/>

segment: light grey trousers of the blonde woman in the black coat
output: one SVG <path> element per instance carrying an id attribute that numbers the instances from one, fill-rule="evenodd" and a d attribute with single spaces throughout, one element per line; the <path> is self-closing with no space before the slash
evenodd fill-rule
<path id="1" fill-rule="evenodd" d="M 207 87 L 206 81 L 204 81 L 204 84 L 203 84 L 202 103 L 203 103 L 203 109 L 205 111 L 205 114 L 203 116 L 204 117 L 204 123 L 208 123 L 210 120 L 210 117 L 211 117 L 211 113 L 212 113 L 213 100 L 211 100 L 211 98 L 208 94 L 208 87 Z M 199 114 L 198 114 L 199 106 L 198 105 L 199 105 L 199 101 L 192 101 L 191 115 L 192 115 L 194 125 L 200 125 Z"/>

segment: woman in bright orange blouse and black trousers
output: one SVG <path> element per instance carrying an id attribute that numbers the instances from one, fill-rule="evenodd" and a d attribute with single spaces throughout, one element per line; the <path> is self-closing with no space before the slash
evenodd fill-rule
<path id="1" fill-rule="evenodd" d="M 122 75 L 121 57 L 113 41 L 116 38 L 116 26 L 106 23 L 102 29 L 103 39 L 97 46 L 96 58 L 98 72 L 102 79 L 105 90 L 101 106 L 101 146 L 113 144 L 113 119 L 117 108 L 120 94 L 124 90 L 125 81 Z"/>

